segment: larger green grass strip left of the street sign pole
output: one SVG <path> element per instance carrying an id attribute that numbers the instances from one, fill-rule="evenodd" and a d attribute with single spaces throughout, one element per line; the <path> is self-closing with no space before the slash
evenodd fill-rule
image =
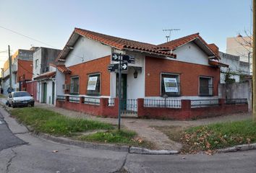
<path id="1" fill-rule="evenodd" d="M 57 112 L 36 107 L 25 107 L 12 110 L 12 115 L 20 123 L 30 125 L 33 130 L 56 136 L 74 136 L 88 130 L 111 130 L 114 126 L 95 120 L 65 117 Z"/>

